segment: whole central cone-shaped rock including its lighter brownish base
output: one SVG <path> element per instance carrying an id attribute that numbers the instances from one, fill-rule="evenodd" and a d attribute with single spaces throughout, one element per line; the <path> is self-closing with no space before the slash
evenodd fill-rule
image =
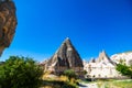
<path id="1" fill-rule="evenodd" d="M 59 74 L 65 69 L 74 69 L 78 73 L 84 69 L 82 61 L 69 38 L 64 41 L 61 47 L 46 63 L 46 70 Z"/>

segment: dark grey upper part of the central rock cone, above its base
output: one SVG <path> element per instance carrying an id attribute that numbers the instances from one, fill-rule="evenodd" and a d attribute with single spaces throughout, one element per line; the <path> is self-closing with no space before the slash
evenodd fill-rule
<path id="1" fill-rule="evenodd" d="M 53 55 L 48 64 L 59 63 L 61 66 L 77 67 L 82 66 L 82 61 L 70 43 L 69 38 L 66 38 L 58 51 Z"/>

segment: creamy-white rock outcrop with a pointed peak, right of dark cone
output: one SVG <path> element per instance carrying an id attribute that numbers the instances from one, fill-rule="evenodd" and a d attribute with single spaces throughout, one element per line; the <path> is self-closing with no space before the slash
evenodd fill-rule
<path id="1" fill-rule="evenodd" d="M 102 51 L 99 54 L 99 57 L 95 61 L 87 63 L 84 66 L 84 69 L 87 70 L 86 77 L 89 78 L 118 78 L 121 77 L 116 70 L 116 63 L 109 58 L 107 53 Z"/>

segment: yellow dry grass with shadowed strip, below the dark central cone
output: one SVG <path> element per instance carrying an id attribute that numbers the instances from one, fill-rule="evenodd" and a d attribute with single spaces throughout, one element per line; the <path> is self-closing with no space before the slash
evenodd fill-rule
<path id="1" fill-rule="evenodd" d="M 69 80 L 66 76 L 55 76 L 50 72 L 43 75 L 43 85 L 41 88 L 77 88 L 75 79 Z"/>

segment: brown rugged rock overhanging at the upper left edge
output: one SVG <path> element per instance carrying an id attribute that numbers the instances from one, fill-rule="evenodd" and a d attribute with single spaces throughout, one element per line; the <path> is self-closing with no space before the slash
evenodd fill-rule
<path id="1" fill-rule="evenodd" d="M 12 0 L 0 0 L 0 55 L 9 47 L 15 33 L 16 15 Z"/>

